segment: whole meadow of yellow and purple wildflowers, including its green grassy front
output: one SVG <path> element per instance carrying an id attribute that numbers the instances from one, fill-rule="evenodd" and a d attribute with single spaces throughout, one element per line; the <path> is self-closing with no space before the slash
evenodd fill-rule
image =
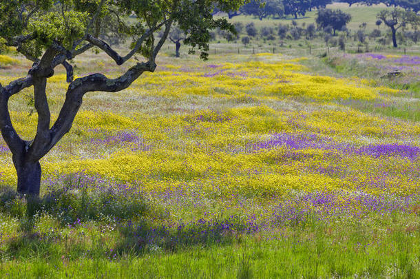
<path id="1" fill-rule="evenodd" d="M 418 56 L 375 55 L 358 59 L 399 59 L 419 75 Z M 94 67 L 118 74 L 106 59 L 86 61 L 92 68 L 80 76 Z M 0 140 L 0 273 L 19 276 L 25 262 L 29 273 L 59 278 L 83 269 L 105 277 L 420 276 L 418 92 L 320 76 L 307 61 L 163 57 L 128 90 L 89 94 L 41 162 L 40 200 L 10 194 L 16 174 Z M 20 65 L 0 70 L 0 82 Z M 65 76 L 48 86 L 54 117 Z M 36 113 L 23 95 L 12 100 L 12 120 L 30 138 Z M 410 114 L 401 116 L 404 105 Z"/>

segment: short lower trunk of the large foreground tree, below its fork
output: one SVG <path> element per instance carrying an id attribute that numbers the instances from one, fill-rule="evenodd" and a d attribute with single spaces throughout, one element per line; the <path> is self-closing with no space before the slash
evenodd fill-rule
<path id="1" fill-rule="evenodd" d="M 39 162 L 14 160 L 17 172 L 17 192 L 39 196 L 41 187 L 41 165 Z"/>

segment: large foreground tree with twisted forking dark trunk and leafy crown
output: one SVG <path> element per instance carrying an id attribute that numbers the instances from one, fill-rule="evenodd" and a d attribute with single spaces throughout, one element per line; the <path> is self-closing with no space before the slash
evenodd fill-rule
<path id="1" fill-rule="evenodd" d="M 154 72 L 156 56 L 176 24 L 187 34 L 184 43 L 201 51 L 207 59 L 209 30 L 220 28 L 234 32 L 226 19 L 213 19 L 213 7 L 224 12 L 238 10 L 242 0 L 0 0 L 0 42 L 14 46 L 34 63 L 28 75 L 0 84 L 0 130 L 17 171 L 17 191 L 39 195 L 41 165 L 39 160 L 70 131 L 74 118 L 87 92 L 118 92 L 129 87 L 144 72 Z M 105 18 L 117 21 L 120 32 L 132 38 L 129 52 L 121 56 L 109 43 L 99 39 Z M 125 25 L 122 19 L 133 17 L 135 22 Z M 135 17 L 134 17 L 135 16 Z M 162 30 L 160 39 L 156 36 Z M 72 81 L 65 94 L 59 116 L 51 126 L 47 98 L 47 79 L 54 68 L 64 65 L 72 80 L 74 57 L 98 48 L 112 58 L 116 65 L 136 61 L 136 65 L 116 79 L 103 74 L 90 74 Z M 100 69 L 98 69 L 100 70 Z M 36 136 L 24 141 L 12 125 L 8 103 L 10 97 L 32 87 L 34 107 L 38 114 Z"/>

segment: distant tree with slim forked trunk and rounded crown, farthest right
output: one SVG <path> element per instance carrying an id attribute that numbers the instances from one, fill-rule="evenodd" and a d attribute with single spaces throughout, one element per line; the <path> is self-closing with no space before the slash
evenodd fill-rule
<path id="1" fill-rule="evenodd" d="M 384 22 L 392 32 L 392 45 L 397 48 L 397 30 L 401 27 L 406 27 L 410 24 L 416 28 L 420 24 L 420 17 L 410 10 L 401 10 L 395 8 L 394 10 L 381 10 L 377 14 L 377 18 Z"/>

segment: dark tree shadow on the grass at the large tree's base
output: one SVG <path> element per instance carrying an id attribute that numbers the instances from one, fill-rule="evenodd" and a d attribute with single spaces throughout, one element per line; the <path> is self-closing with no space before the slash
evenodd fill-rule
<path id="1" fill-rule="evenodd" d="M 51 189 L 45 196 L 19 196 L 13 189 L 0 189 L 0 211 L 19 220 L 18 236 L 8 242 L 6 252 L 12 258 L 30 258 L 34 255 L 90 254 L 92 258 L 109 259 L 118 256 L 138 256 L 156 251 L 176 251 L 191 246 L 224 245 L 240 242 L 242 234 L 253 234 L 258 226 L 238 216 L 199 219 L 189 223 L 168 220 L 150 221 L 157 212 L 149 207 L 138 192 L 118 189 L 90 189 L 63 187 Z M 47 233 L 40 232 L 36 223 L 40 216 L 48 215 L 58 221 Z M 65 229 L 83 229 L 94 224 L 96 235 L 72 236 L 67 245 L 61 233 Z M 110 231 L 101 227 L 112 224 Z M 105 234 L 106 236 L 102 236 Z M 66 236 L 67 237 L 67 236 Z M 108 242 L 104 243 L 103 239 Z M 109 238 L 112 238 L 109 240 Z M 83 243 L 81 243 L 83 242 Z M 92 242 L 96 244 L 92 245 Z"/>

